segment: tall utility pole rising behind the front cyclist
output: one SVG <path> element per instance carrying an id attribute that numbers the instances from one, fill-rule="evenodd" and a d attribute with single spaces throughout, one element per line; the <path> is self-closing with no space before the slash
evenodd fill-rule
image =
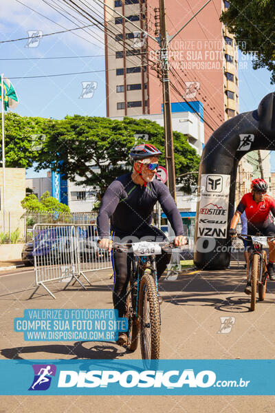
<path id="1" fill-rule="evenodd" d="M 174 162 L 174 142 L 173 142 L 173 127 L 172 113 L 170 100 L 170 85 L 169 85 L 169 67 L 168 67 L 168 39 L 166 33 L 166 15 L 165 15 L 165 0 L 159 0 L 159 46 L 160 46 L 160 61 L 162 70 L 162 94 L 164 107 L 164 141 L 165 141 L 165 166 L 168 171 L 168 189 L 177 202 L 176 198 L 176 176 Z"/>

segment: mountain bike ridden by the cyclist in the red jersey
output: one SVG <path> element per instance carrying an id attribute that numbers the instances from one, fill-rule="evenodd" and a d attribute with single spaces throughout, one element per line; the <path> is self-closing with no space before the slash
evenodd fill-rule
<path id="1" fill-rule="evenodd" d="M 258 286 L 259 301 L 265 299 L 265 291 L 267 285 L 267 254 L 263 246 L 267 246 L 267 237 L 260 235 L 238 234 L 237 237 L 241 240 L 252 240 L 252 246 L 249 247 L 249 261 L 246 269 L 248 282 L 251 282 L 251 300 L 250 310 L 254 311 L 256 306 L 256 293 Z M 268 237 L 268 240 L 273 241 L 275 238 Z"/>

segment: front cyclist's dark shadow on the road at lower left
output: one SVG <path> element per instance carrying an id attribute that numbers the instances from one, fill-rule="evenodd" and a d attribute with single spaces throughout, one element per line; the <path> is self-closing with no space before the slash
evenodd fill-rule
<path id="1" fill-rule="evenodd" d="M 86 348 L 83 343 L 90 343 L 91 348 Z M 95 343 L 95 344 L 94 344 Z M 28 353 L 50 353 L 50 354 L 65 354 L 67 356 L 72 356 L 70 360 L 75 359 L 116 359 L 117 357 L 122 357 L 126 350 L 122 347 L 118 347 L 115 343 L 104 343 L 100 345 L 95 341 L 77 341 L 74 345 L 65 344 L 43 344 L 41 346 L 25 346 L 18 348 L 3 348 L 1 350 L 1 355 L 6 359 L 21 359 L 19 354 Z M 32 357 L 34 358 L 34 357 Z M 37 356 L 39 358 L 39 355 Z M 45 357 L 46 358 L 46 357 Z M 67 359 L 67 358 L 66 358 Z"/>

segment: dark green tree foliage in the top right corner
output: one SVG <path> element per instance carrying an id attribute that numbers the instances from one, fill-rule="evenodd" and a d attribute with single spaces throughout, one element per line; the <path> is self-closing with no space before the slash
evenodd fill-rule
<path id="1" fill-rule="evenodd" d="M 275 83 L 275 1 L 230 0 L 230 8 L 221 14 L 221 21 L 234 34 L 245 54 L 254 54 L 253 68 L 266 67 Z"/>

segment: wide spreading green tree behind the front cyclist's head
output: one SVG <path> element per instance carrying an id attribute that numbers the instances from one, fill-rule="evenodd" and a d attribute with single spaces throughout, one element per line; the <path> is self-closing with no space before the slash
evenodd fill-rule
<path id="1" fill-rule="evenodd" d="M 130 170 L 129 150 L 136 134 L 148 135 L 148 141 L 164 153 L 164 128 L 147 119 L 66 116 L 63 120 L 55 120 L 50 127 L 48 124 L 45 133 L 48 138 L 37 169 L 54 169 L 74 182 L 76 175 L 80 176 L 83 179 L 79 184 L 99 187 L 99 200 L 117 176 Z M 173 137 L 176 176 L 197 171 L 199 156 L 186 136 L 174 132 Z M 159 162 L 165 165 L 164 155 Z M 195 176 L 190 176 L 189 180 L 179 178 L 186 189 L 195 181 Z"/>

